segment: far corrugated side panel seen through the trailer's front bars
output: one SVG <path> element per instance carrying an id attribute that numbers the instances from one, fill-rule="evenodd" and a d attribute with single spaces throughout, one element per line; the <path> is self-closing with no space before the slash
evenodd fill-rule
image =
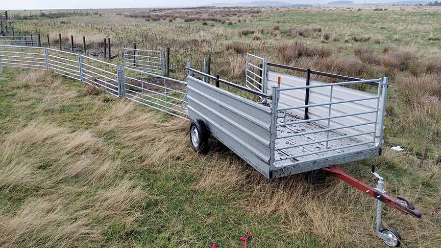
<path id="1" fill-rule="evenodd" d="M 296 77 L 293 75 L 277 73 L 270 71 L 268 76 L 268 87 L 277 86 L 277 77 L 281 77 L 281 87 L 301 87 L 306 85 L 306 79 Z M 310 85 L 325 84 L 318 81 L 311 81 Z M 326 84 L 328 85 L 328 84 Z M 342 86 L 334 86 L 332 93 L 332 101 L 351 100 L 357 98 L 375 97 L 376 94 L 365 92 L 362 90 L 350 89 Z M 309 92 L 309 104 L 324 103 L 330 100 L 331 87 L 312 88 Z M 381 99 L 380 99 L 381 102 Z M 294 107 L 305 104 L 305 90 L 287 90 L 281 91 L 279 108 Z M 334 104 L 331 108 L 331 115 L 342 115 L 346 113 L 366 112 L 377 109 L 377 99 L 370 99 L 365 101 L 348 102 L 343 104 Z M 304 109 L 290 110 L 300 118 L 304 118 Z M 309 108 L 309 118 L 319 118 L 328 116 L 328 106 L 319 106 Z M 357 116 L 347 116 L 342 118 L 331 119 L 330 127 L 338 127 L 345 125 L 352 125 L 357 123 L 366 123 L 369 121 L 375 121 L 375 113 L 362 114 Z M 327 126 L 327 120 L 318 121 L 320 125 Z M 379 133 L 377 128 L 377 134 Z M 339 132 L 347 135 L 360 134 L 365 132 L 372 132 L 374 130 L 374 124 L 359 126 L 355 128 L 342 129 Z M 371 140 L 372 135 L 364 135 L 357 137 L 361 140 Z"/>

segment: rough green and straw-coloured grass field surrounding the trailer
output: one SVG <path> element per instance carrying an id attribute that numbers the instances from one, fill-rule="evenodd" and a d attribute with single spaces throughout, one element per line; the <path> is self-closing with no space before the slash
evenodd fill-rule
<path id="1" fill-rule="evenodd" d="M 184 79 L 213 55 L 212 74 L 243 82 L 244 52 L 355 77 L 390 77 L 384 155 L 343 165 L 423 213 L 385 207 L 408 248 L 441 244 L 441 9 L 145 9 L 10 20 L 68 49 L 172 50 Z M 230 14 L 228 13 L 230 12 Z M 235 15 L 232 15 L 234 13 Z M 159 21 L 155 21 L 159 19 Z M 187 20 L 185 20 L 187 19 Z M 149 20 L 149 21 L 146 21 Z M 42 45 L 46 40 L 42 39 Z M 268 181 L 212 141 L 193 152 L 189 123 L 51 72 L 0 74 L 0 247 L 384 247 L 371 198 L 321 171 Z M 405 151 L 390 147 L 400 145 Z"/>

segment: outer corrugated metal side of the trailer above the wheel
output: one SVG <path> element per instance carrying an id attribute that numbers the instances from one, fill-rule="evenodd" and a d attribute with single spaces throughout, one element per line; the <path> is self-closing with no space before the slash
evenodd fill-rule
<path id="1" fill-rule="evenodd" d="M 188 77 L 188 114 L 202 119 L 218 140 L 267 178 L 270 175 L 270 109 Z"/>

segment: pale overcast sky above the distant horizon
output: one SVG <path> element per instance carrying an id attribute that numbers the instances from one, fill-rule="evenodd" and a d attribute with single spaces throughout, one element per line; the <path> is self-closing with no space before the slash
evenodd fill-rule
<path id="1" fill-rule="evenodd" d="M 86 8 L 142 8 L 205 5 L 219 2 L 251 2 L 254 0 L 1 0 L 1 9 L 86 9 Z M 333 0 L 274 0 L 288 3 L 327 3 Z M 353 0 L 365 2 L 365 0 Z M 393 0 L 368 0 L 369 3 Z"/>

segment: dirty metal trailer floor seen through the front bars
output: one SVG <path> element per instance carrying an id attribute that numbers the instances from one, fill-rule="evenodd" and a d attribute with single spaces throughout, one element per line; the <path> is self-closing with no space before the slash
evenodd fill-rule
<path id="1" fill-rule="evenodd" d="M 284 118 L 284 116 L 285 115 L 283 113 L 279 113 L 279 118 L 277 120 L 278 124 L 282 124 L 285 121 L 292 122 L 292 121 L 302 120 L 302 118 L 299 118 L 299 117 L 294 116 L 289 113 L 286 114 L 285 118 Z M 277 136 L 304 133 L 304 132 L 316 131 L 316 130 L 320 130 L 320 129 L 326 129 L 326 127 L 323 127 L 323 126 L 321 126 L 319 124 L 315 124 L 315 123 L 299 123 L 299 124 L 294 124 L 294 125 L 289 125 L 289 126 L 280 126 L 280 127 L 277 127 Z M 299 136 L 294 136 L 294 137 L 289 137 L 289 138 L 276 139 L 275 140 L 275 149 L 280 148 L 280 147 L 284 147 L 284 146 L 289 146 L 289 145 L 324 140 L 324 139 L 327 139 L 326 136 L 327 136 L 327 132 L 320 132 L 320 133 L 315 133 L 315 134 L 299 135 Z M 339 136 L 344 136 L 344 135 L 340 134 L 336 131 L 329 132 L 329 138 L 334 138 L 334 137 L 339 137 Z M 342 139 L 338 139 L 338 140 L 329 141 L 328 142 L 328 149 L 334 148 L 334 147 L 342 147 L 342 146 L 346 146 L 346 145 L 362 143 L 362 142 L 363 141 L 356 139 L 356 138 L 353 138 L 353 137 L 352 138 L 342 138 Z M 318 154 L 314 154 L 314 155 L 307 155 L 307 156 L 303 156 L 303 157 L 296 157 L 296 158 L 277 161 L 279 159 L 284 159 L 284 158 L 288 158 L 288 157 L 295 156 L 295 155 L 302 155 L 305 153 L 312 153 L 312 152 L 318 152 L 320 150 L 326 150 L 325 146 L 326 146 L 326 142 L 321 142 L 321 143 L 316 143 L 316 144 L 311 144 L 311 145 L 305 145 L 305 146 L 299 146 L 299 147 L 294 147 L 294 148 L 290 148 L 290 149 L 275 151 L 274 165 L 276 167 L 282 167 L 284 165 L 292 164 L 293 162 L 297 162 L 297 161 L 316 160 L 318 158 L 326 158 L 326 157 L 330 157 L 330 156 L 339 155 L 342 153 L 348 153 L 348 152 L 372 148 L 372 144 L 363 144 L 363 145 L 353 146 L 353 147 L 349 147 L 349 148 L 338 149 L 335 151 L 328 151 L 328 152 L 318 153 Z"/>

